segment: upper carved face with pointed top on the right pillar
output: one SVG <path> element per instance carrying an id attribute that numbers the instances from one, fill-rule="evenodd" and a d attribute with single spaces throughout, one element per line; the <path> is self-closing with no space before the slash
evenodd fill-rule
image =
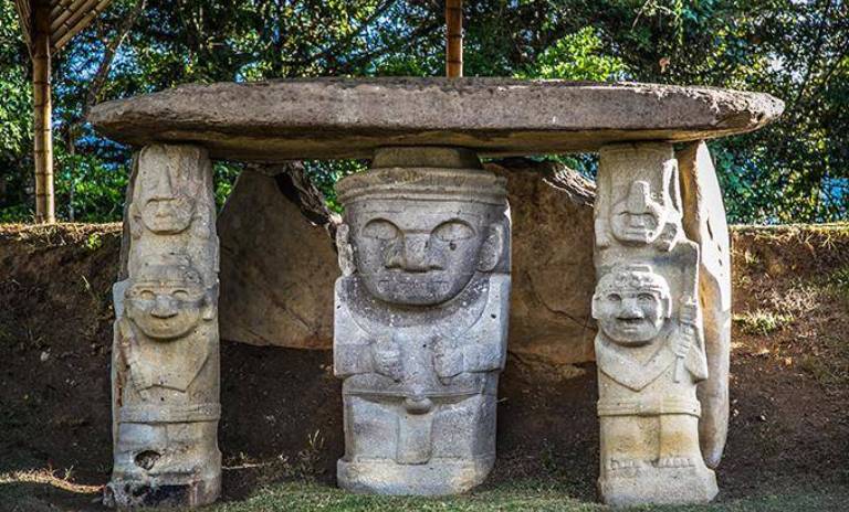
<path id="1" fill-rule="evenodd" d="M 635 181 L 628 195 L 614 205 L 610 228 L 625 243 L 650 244 L 660 236 L 665 223 L 663 205 L 651 198 L 646 181 Z"/>

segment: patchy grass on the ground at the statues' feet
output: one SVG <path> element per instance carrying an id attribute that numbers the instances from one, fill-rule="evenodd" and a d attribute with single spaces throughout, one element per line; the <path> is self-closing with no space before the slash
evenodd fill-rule
<path id="1" fill-rule="evenodd" d="M 45 489 L 46 486 L 46 489 Z M 0 476 L 0 511 L 53 512 L 56 510 L 103 510 L 94 502 L 99 488 L 73 484 L 50 473 L 7 473 Z M 42 501 L 46 499 L 46 501 Z M 48 501 L 64 502 L 54 509 Z M 74 505 L 76 503 L 76 505 Z M 849 489 L 786 489 L 719 503 L 688 506 L 636 506 L 617 509 L 647 512 L 832 512 L 847 510 Z M 285 482 L 263 487 L 244 500 L 218 503 L 209 512 L 585 512 L 607 511 L 608 506 L 570 497 L 570 489 L 538 481 L 515 481 L 453 498 L 373 497 L 345 492 L 314 482 Z"/>

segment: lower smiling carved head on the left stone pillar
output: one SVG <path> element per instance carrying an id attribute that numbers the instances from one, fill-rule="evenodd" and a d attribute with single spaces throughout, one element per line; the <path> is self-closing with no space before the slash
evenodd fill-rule
<path id="1" fill-rule="evenodd" d="M 127 317 L 154 340 L 189 334 L 200 320 L 214 318 L 214 302 L 200 274 L 188 265 L 145 265 L 125 295 Z"/>

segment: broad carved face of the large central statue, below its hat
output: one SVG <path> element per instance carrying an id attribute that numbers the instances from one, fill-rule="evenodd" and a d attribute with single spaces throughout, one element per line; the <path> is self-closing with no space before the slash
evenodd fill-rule
<path id="1" fill-rule="evenodd" d="M 427 306 L 455 297 L 500 257 L 499 207 L 467 201 L 381 199 L 348 206 L 357 273 L 391 303 Z"/>

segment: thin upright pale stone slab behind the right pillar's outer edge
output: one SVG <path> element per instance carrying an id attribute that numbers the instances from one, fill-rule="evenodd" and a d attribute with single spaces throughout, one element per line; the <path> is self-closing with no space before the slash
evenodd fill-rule
<path id="1" fill-rule="evenodd" d="M 684 232 L 699 244 L 701 255 L 699 296 L 709 376 L 699 383 L 699 401 L 703 405 L 699 438 L 705 462 L 715 468 L 729 433 L 731 242 L 722 191 L 708 145 L 693 142 L 675 157 L 681 171 Z"/>

